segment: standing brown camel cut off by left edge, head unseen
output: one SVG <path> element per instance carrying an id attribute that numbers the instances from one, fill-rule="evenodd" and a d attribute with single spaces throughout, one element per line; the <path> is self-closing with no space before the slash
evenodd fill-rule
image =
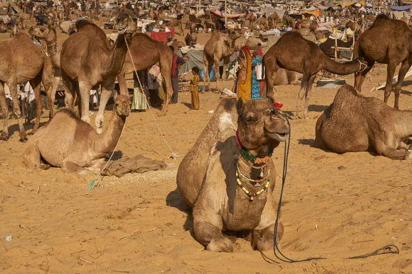
<path id="1" fill-rule="evenodd" d="M 17 98 L 17 84 L 27 81 L 32 86 L 36 103 L 37 116 L 36 123 L 30 134 L 34 134 L 40 124 L 40 116 L 43 110 L 41 100 L 41 83 L 45 86 L 47 93 L 47 104 L 49 105 L 50 115 L 53 116 L 54 101 L 52 101 L 52 64 L 43 52 L 41 47 L 34 45 L 27 34 L 19 32 L 11 40 L 0 42 L 0 105 L 3 112 L 3 131 L 0 140 L 8 139 L 8 106 L 5 99 L 4 84 L 10 88 L 13 102 L 13 114 L 19 121 L 20 141 L 27 140 L 27 134 L 23 127 L 19 99 Z"/>

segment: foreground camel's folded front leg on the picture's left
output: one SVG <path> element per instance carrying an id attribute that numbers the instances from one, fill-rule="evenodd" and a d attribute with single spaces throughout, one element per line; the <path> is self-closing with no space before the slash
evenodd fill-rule
<path id="1" fill-rule="evenodd" d="M 233 243 L 223 236 L 220 229 L 194 215 L 194 238 L 213 252 L 233 252 Z"/>

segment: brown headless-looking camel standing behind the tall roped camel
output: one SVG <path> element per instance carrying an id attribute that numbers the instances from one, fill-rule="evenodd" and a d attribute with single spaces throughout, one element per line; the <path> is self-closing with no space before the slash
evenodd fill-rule
<path id="1" fill-rule="evenodd" d="M 128 42 L 130 53 L 132 54 L 133 61 L 137 71 L 150 68 L 154 64 L 159 62 L 160 72 L 165 83 L 166 101 L 161 110 L 161 115 L 166 114 L 170 98 L 173 95 L 172 88 L 172 61 L 173 52 L 163 42 L 155 41 L 146 34 L 135 33 L 132 36 L 132 40 Z M 142 51 L 141 49 L 145 49 Z M 127 95 L 126 78 L 125 73 L 133 73 L 133 62 L 130 59 L 130 54 L 126 54 L 126 61 L 121 73 L 117 75 L 119 81 L 120 93 Z"/>

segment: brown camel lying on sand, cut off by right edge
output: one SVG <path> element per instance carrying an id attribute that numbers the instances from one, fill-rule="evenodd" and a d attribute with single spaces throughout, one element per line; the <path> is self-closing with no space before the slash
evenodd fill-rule
<path id="1" fill-rule="evenodd" d="M 315 146 L 336 153 L 370 151 L 391 159 L 411 159 L 404 141 L 412 136 L 412 112 L 365 97 L 352 86 L 339 88 L 316 124 Z"/>

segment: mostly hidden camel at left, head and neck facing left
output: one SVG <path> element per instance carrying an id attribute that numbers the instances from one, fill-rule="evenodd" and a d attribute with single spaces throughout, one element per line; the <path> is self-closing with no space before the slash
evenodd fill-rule
<path id="1" fill-rule="evenodd" d="M 62 47 L 57 46 L 57 32 L 52 25 L 45 26 L 33 26 L 29 29 L 29 34 L 45 41 L 47 45 L 46 55 L 49 56 L 52 66 L 54 67 L 53 77 L 53 90 L 52 90 L 52 102 L 56 98 L 56 91 L 60 84 L 60 78 L 62 73 L 60 71 L 60 53 Z M 53 118 L 53 116 L 52 116 Z"/>

